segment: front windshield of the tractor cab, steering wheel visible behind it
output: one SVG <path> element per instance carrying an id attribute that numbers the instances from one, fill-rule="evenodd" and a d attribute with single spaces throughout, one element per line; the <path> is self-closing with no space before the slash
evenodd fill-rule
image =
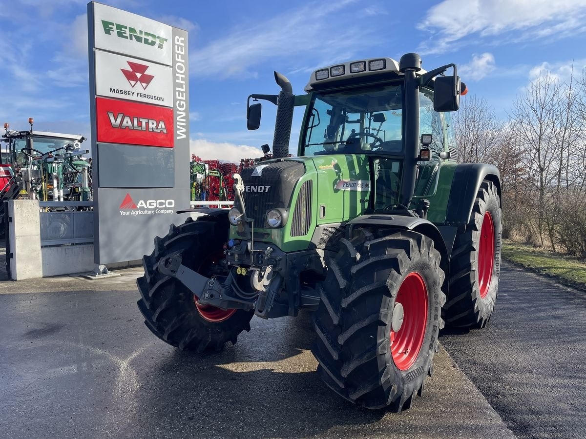
<path id="1" fill-rule="evenodd" d="M 403 87 L 314 93 L 302 155 L 403 152 Z"/>

